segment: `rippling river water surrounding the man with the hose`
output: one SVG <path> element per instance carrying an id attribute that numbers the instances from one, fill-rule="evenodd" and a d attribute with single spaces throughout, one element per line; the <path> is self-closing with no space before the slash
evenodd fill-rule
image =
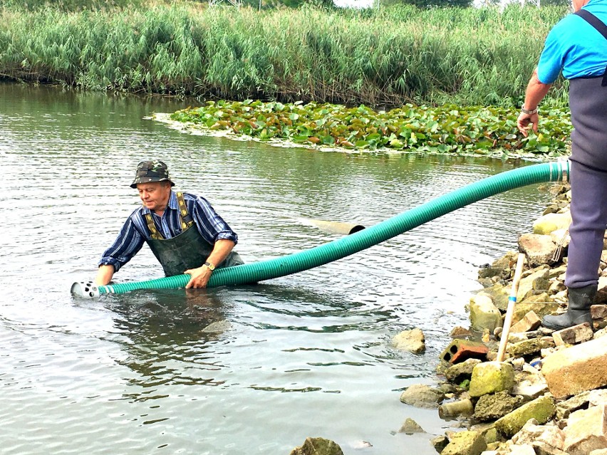
<path id="1" fill-rule="evenodd" d="M 479 265 L 516 247 L 549 194 L 516 189 L 258 286 L 72 298 L 138 206 L 142 159 L 207 197 L 248 262 L 338 238 L 302 219 L 370 226 L 525 164 L 272 147 L 145 119 L 186 105 L 0 84 L 1 453 L 286 455 L 308 436 L 346 455 L 435 453 L 453 422 L 400 391 L 437 382 Z M 144 247 L 115 281 L 160 276 Z M 414 327 L 425 354 L 390 347 Z M 426 433 L 398 433 L 408 417 Z"/>

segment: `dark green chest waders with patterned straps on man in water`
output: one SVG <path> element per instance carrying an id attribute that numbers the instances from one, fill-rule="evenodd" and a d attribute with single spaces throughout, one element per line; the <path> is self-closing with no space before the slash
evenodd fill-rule
<path id="1" fill-rule="evenodd" d="M 147 244 L 162 265 L 166 276 L 181 275 L 190 268 L 202 266 L 213 251 L 213 245 L 200 235 L 192 216 L 188 213 L 182 193 L 177 193 L 177 202 L 180 209 L 182 233 L 171 239 L 162 237 L 154 224 L 151 213 L 145 214 L 147 229 L 150 230 L 152 236 L 150 240 L 146 240 Z M 232 251 L 221 264 L 217 264 L 216 268 L 237 266 L 242 263 L 244 262 L 239 254 Z"/>

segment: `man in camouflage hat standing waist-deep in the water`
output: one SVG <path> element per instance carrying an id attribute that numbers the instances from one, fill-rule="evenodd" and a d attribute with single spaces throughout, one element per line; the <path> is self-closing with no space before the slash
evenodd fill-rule
<path id="1" fill-rule="evenodd" d="M 110 283 L 115 272 L 147 243 L 167 276 L 187 273 L 186 288 L 204 288 L 215 268 L 237 266 L 238 236 L 207 199 L 172 191 L 175 183 L 162 161 L 142 161 L 130 185 L 142 206 L 133 211 L 114 243 L 103 253 L 95 283 Z"/>

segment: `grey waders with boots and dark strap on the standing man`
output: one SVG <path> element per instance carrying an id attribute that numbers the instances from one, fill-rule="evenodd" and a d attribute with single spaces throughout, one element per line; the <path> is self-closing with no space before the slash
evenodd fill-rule
<path id="1" fill-rule="evenodd" d="M 576 14 L 607 38 L 596 16 Z M 569 81 L 571 133 L 571 226 L 565 285 L 569 305 L 562 315 L 546 315 L 541 325 L 562 330 L 589 323 L 598 288 L 598 266 L 607 225 L 607 69 L 603 77 Z"/>

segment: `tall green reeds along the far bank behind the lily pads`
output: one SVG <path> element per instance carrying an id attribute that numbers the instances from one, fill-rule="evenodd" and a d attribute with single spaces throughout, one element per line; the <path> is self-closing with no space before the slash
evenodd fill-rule
<path id="1" fill-rule="evenodd" d="M 564 14 L 519 6 L 500 14 L 5 4 L 0 73 L 199 98 L 505 107 L 520 104 L 546 33 Z M 550 96 L 563 104 L 563 83 Z"/>

